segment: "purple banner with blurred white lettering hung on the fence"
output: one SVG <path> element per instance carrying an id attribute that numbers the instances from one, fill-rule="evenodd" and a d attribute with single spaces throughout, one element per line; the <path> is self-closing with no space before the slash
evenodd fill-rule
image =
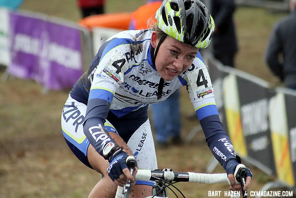
<path id="1" fill-rule="evenodd" d="M 11 13 L 10 33 L 10 74 L 48 89 L 71 88 L 82 75 L 78 29 Z"/>

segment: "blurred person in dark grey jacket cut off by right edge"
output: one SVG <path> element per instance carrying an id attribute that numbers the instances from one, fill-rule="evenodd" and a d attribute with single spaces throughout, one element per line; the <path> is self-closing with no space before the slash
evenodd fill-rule
<path id="1" fill-rule="evenodd" d="M 296 89 L 296 0 L 290 0 L 290 15 L 274 25 L 265 59 L 285 87 Z"/>

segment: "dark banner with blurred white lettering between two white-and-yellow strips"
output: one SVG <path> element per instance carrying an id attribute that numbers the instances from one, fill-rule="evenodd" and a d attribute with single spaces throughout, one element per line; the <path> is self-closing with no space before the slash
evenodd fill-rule
<path id="1" fill-rule="evenodd" d="M 237 77 L 237 86 L 248 157 L 262 164 L 262 170 L 269 174 L 275 174 L 268 120 L 268 103 L 271 93 L 268 88 L 239 76 Z"/>

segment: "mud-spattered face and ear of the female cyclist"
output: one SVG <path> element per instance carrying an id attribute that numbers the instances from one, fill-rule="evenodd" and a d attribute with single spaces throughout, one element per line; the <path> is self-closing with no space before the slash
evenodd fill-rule
<path id="1" fill-rule="evenodd" d="M 154 31 L 151 36 L 152 47 L 156 48 L 158 42 L 157 33 Z M 164 80 L 171 81 L 189 69 L 197 52 L 197 48 L 167 36 L 157 52 L 155 67 Z"/>

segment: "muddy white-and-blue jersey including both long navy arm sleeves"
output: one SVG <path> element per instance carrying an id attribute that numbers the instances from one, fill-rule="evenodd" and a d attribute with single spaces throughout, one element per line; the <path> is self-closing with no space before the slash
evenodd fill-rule
<path id="1" fill-rule="evenodd" d="M 186 86 L 208 145 L 225 169 L 226 161 L 235 158 L 235 153 L 220 122 L 210 76 L 200 53 L 188 70 L 164 82 L 162 97 L 157 99 L 161 77 L 152 63 L 151 35 L 152 31 L 146 29 L 123 31 L 111 37 L 76 82 L 70 96 L 87 105 L 84 134 L 102 155 L 104 145 L 112 141 L 103 133 L 109 111 L 117 118 L 130 115 L 126 125 L 133 125 L 133 120 L 147 113 L 148 104 L 162 102 L 176 89 Z"/>

